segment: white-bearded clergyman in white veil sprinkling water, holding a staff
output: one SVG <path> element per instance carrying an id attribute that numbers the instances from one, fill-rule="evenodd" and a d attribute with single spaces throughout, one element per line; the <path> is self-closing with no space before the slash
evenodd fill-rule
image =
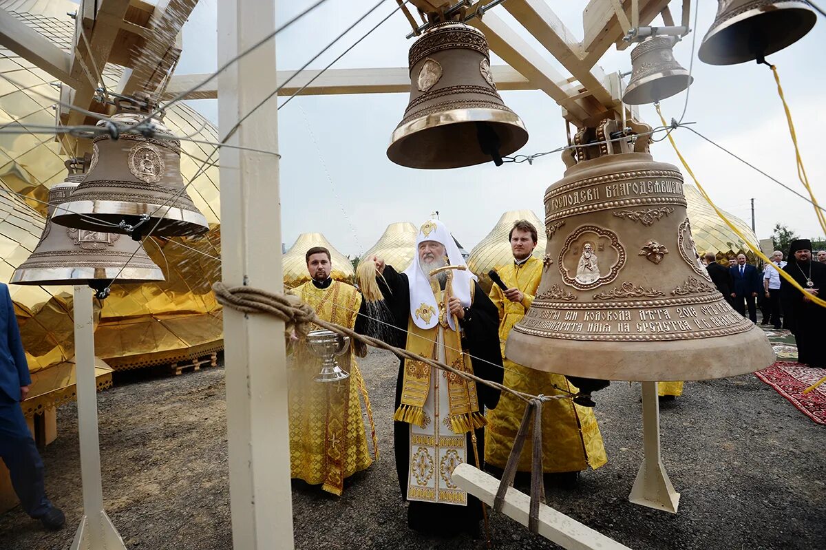
<path id="1" fill-rule="evenodd" d="M 416 254 L 404 273 L 382 258 L 359 271 L 368 298 L 371 288 L 392 312 L 395 334 L 376 334 L 464 372 L 502 382 L 496 337 L 498 314 L 458 246 L 439 220 L 428 220 L 416 236 Z M 499 391 L 468 382 L 420 361 L 402 359 L 393 417 L 396 473 L 402 499 L 409 501 L 411 529 L 443 536 L 477 535 L 482 505 L 453 481 L 453 470 L 467 462 L 480 469 L 484 458 L 484 410 L 496 407 Z M 475 439 L 475 441 L 474 441 Z M 474 444 L 477 448 L 474 449 Z"/>

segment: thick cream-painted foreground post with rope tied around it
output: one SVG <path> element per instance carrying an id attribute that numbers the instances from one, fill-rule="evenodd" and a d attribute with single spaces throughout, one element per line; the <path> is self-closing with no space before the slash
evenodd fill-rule
<path id="1" fill-rule="evenodd" d="M 275 28 L 274 0 L 221 0 L 218 64 Z M 226 135 L 276 82 L 275 40 L 218 77 L 218 127 Z M 278 105 L 268 102 L 228 141 L 278 150 Z M 222 277 L 230 287 L 282 292 L 278 157 L 221 149 Z M 224 310 L 230 508 L 235 550 L 293 548 L 284 324 Z"/>

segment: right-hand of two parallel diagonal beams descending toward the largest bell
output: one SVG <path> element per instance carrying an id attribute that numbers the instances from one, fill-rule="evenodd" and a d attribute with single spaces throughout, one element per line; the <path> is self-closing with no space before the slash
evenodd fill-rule
<path id="1" fill-rule="evenodd" d="M 592 68 L 582 62 L 582 45 L 545 0 L 508 0 L 503 7 L 591 92 L 596 101 L 606 109 L 617 104 L 618 98 L 611 97 L 605 89 L 605 74 L 596 65 Z"/>

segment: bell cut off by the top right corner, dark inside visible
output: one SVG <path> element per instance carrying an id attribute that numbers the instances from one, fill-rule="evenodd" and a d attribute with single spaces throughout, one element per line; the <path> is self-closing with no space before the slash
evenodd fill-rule
<path id="1" fill-rule="evenodd" d="M 711 65 L 760 61 L 803 38 L 816 21 L 804 0 L 718 0 L 697 57 Z"/>

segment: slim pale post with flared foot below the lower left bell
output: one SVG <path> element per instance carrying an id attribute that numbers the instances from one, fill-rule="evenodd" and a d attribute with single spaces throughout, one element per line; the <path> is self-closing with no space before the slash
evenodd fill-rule
<path id="1" fill-rule="evenodd" d="M 103 511 L 101 453 L 97 439 L 97 384 L 92 290 L 74 287 L 74 372 L 78 392 L 80 476 L 83 519 L 74 533 L 72 550 L 126 550 L 121 535 Z"/>

